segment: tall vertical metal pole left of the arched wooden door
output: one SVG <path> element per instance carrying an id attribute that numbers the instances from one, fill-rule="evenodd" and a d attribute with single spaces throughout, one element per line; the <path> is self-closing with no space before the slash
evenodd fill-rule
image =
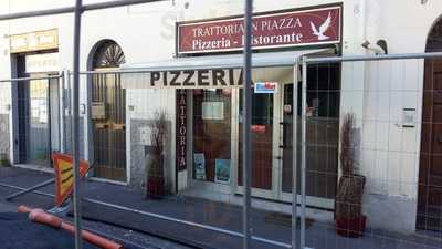
<path id="1" fill-rule="evenodd" d="M 74 64 L 73 64 L 73 168 L 74 168 L 74 224 L 75 224 L 75 249 L 83 248 L 82 241 L 82 193 L 81 193 L 81 176 L 80 176 L 80 38 L 82 23 L 82 0 L 76 0 L 74 12 Z"/>

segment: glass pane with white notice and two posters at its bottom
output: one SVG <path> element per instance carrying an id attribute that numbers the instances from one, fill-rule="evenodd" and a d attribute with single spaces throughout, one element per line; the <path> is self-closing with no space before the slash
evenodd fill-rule
<path id="1" fill-rule="evenodd" d="M 193 178 L 230 184 L 231 91 L 193 91 Z"/>

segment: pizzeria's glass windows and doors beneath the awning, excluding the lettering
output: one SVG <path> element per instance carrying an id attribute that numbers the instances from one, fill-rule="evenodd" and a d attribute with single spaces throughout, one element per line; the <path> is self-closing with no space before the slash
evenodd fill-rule
<path id="1" fill-rule="evenodd" d="M 297 108 L 301 113 L 301 95 L 298 103 L 293 103 L 293 72 L 292 66 L 253 70 L 251 133 L 252 194 L 255 197 L 292 199 L 292 123 L 294 111 Z M 312 83 L 307 94 L 307 204 L 332 209 L 337 184 L 339 66 L 318 66 L 308 73 Z M 328 76 L 315 80 L 313 75 Z M 193 90 L 191 95 L 191 165 L 196 186 L 203 181 L 203 186 L 212 184 L 211 189 L 222 191 L 230 187 L 233 194 L 241 194 L 242 90 Z M 297 120 L 299 123 L 301 118 Z M 297 144 L 299 154 L 301 144 Z M 297 176 L 299 185 L 299 167 Z"/>

